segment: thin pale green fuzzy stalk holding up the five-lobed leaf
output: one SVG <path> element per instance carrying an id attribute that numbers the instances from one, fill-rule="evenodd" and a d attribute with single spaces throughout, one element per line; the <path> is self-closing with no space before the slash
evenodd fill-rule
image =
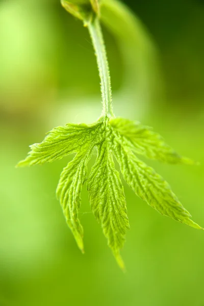
<path id="1" fill-rule="evenodd" d="M 114 114 L 112 106 L 112 91 L 109 64 L 106 54 L 106 47 L 104 44 L 104 38 L 100 28 L 100 22 L 98 17 L 94 17 L 93 20 L 88 22 L 87 27 L 89 29 L 89 33 L 92 39 L 98 64 L 100 90 L 103 104 L 103 115 L 107 117 L 113 117 Z"/>

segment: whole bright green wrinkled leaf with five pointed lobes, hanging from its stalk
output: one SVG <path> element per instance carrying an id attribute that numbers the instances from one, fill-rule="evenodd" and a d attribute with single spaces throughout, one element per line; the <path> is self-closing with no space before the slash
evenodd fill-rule
<path id="1" fill-rule="evenodd" d="M 87 164 L 94 150 L 97 151 L 97 157 L 88 175 Z M 106 116 L 92 125 L 67 124 L 56 127 L 42 143 L 31 146 L 28 157 L 19 162 L 18 166 L 53 162 L 72 153 L 76 155 L 61 173 L 57 197 L 82 252 L 83 227 L 78 212 L 81 190 L 86 182 L 93 214 L 101 224 L 119 266 L 124 268 L 120 249 L 129 228 L 129 220 L 123 186 L 119 172 L 115 169 L 113 155 L 126 183 L 148 205 L 176 221 L 201 229 L 190 219 L 191 215 L 168 183 L 136 157 L 135 153 L 138 153 L 170 163 L 192 163 L 177 155 L 158 134 L 147 127 L 122 118 L 110 120 Z"/>

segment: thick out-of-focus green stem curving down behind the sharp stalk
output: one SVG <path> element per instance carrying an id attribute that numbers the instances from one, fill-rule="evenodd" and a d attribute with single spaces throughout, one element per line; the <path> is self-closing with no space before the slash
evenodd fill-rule
<path id="1" fill-rule="evenodd" d="M 123 3 L 101 1 L 101 21 L 121 51 L 124 79 L 121 92 L 139 103 L 161 99 L 163 90 L 158 54 L 142 22 Z"/>

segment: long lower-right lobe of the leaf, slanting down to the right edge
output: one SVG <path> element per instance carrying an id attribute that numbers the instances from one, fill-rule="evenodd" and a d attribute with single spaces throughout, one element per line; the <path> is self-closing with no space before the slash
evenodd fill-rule
<path id="1" fill-rule="evenodd" d="M 172 192 L 169 184 L 154 169 L 140 161 L 125 145 L 122 136 L 117 133 L 112 149 L 124 180 L 141 199 L 162 215 L 201 229 L 190 219 L 191 215 Z"/>

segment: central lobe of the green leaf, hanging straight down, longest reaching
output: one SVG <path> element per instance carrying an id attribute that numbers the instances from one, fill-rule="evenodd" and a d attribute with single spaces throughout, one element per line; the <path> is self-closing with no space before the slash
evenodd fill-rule
<path id="1" fill-rule="evenodd" d="M 123 186 L 106 140 L 97 146 L 97 159 L 88 177 L 87 189 L 95 218 L 101 224 L 119 266 L 124 269 L 120 248 L 129 220 Z"/>

